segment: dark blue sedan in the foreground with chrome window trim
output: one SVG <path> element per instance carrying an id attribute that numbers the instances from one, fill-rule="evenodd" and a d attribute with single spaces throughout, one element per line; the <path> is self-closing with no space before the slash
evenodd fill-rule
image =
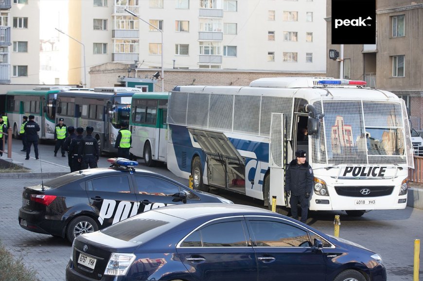
<path id="1" fill-rule="evenodd" d="M 192 204 L 78 236 L 66 280 L 386 281 L 381 262 L 369 249 L 277 213 Z"/>

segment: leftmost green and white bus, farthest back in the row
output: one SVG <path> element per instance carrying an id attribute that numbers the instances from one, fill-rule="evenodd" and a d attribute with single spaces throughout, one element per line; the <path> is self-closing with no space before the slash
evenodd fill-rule
<path id="1" fill-rule="evenodd" d="M 54 139 L 54 119 L 57 93 L 66 87 L 40 86 L 33 90 L 13 90 L 6 93 L 6 113 L 13 137 L 20 135 L 24 115 L 34 115 L 40 125 L 40 139 Z"/>

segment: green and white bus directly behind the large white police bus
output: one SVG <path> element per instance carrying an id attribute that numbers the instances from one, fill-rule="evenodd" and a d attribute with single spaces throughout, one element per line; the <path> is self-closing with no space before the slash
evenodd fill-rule
<path id="1" fill-rule="evenodd" d="M 143 92 L 132 96 L 129 152 L 143 157 L 147 166 L 167 161 L 167 105 L 169 92 Z"/>

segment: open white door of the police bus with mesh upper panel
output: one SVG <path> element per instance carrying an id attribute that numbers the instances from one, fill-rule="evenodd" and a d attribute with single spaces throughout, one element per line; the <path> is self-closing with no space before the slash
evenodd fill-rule
<path id="1" fill-rule="evenodd" d="M 276 205 L 285 206 L 285 118 L 282 113 L 272 113 L 269 137 L 270 198 L 276 196 Z"/>

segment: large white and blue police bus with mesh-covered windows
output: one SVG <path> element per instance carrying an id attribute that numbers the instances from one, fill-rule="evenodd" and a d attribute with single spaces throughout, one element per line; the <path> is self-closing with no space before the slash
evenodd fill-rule
<path id="1" fill-rule="evenodd" d="M 405 104 L 366 82 L 262 78 L 248 87 L 178 86 L 168 109 L 167 165 L 286 212 L 284 169 L 307 152 L 314 171 L 310 210 L 404 209 L 413 147 Z M 308 131 L 308 135 L 305 132 Z"/>

